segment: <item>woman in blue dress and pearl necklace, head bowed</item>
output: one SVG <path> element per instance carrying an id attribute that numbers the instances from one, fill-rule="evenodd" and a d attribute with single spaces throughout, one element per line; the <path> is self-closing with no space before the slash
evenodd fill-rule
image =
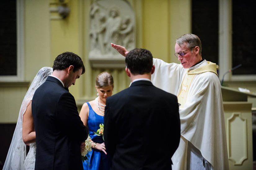
<path id="1" fill-rule="evenodd" d="M 104 112 L 106 98 L 112 95 L 114 80 L 110 73 L 102 72 L 96 78 L 97 98 L 83 104 L 79 116 L 83 124 L 88 127 L 89 135 L 92 138 L 92 151 L 88 153 L 88 162 L 83 162 L 85 169 L 110 169 L 110 159 L 106 153 L 102 136 L 97 136 L 100 124 L 104 123 Z"/>

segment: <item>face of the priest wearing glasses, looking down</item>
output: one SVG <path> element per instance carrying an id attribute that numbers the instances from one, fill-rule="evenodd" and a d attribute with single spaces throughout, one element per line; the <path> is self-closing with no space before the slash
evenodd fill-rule
<path id="1" fill-rule="evenodd" d="M 183 52 L 184 55 L 181 56 L 180 54 L 178 55 L 178 60 L 181 62 L 183 68 L 190 68 L 196 63 L 198 63 L 198 58 L 195 55 L 195 51 L 192 50 L 191 48 L 186 47 L 187 43 L 185 43 L 183 46 L 179 46 L 177 43 L 175 44 L 175 53 L 180 53 Z M 194 49 L 193 47 L 192 49 Z"/>

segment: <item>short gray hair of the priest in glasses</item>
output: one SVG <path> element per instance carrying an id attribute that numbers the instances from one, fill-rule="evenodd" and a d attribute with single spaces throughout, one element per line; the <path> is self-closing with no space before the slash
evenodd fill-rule
<path id="1" fill-rule="evenodd" d="M 187 43 L 187 48 L 199 46 L 199 55 L 202 55 L 202 44 L 200 38 L 197 37 L 197 35 L 184 34 L 181 37 L 178 37 L 175 41 L 179 46 L 183 46 L 185 43 Z"/>

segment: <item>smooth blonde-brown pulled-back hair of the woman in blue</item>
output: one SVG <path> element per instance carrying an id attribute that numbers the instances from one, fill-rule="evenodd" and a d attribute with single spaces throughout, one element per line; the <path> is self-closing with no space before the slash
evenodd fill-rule
<path id="1" fill-rule="evenodd" d="M 114 88 L 114 79 L 113 76 L 108 72 L 100 73 L 96 78 L 97 88 L 112 86 Z"/>

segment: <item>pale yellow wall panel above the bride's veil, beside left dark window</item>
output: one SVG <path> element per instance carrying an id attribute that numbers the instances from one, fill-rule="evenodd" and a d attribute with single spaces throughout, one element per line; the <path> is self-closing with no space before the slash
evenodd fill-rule
<path id="1" fill-rule="evenodd" d="M 42 67 L 52 67 L 49 2 L 24 1 L 24 77 L 32 81 Z"/>

